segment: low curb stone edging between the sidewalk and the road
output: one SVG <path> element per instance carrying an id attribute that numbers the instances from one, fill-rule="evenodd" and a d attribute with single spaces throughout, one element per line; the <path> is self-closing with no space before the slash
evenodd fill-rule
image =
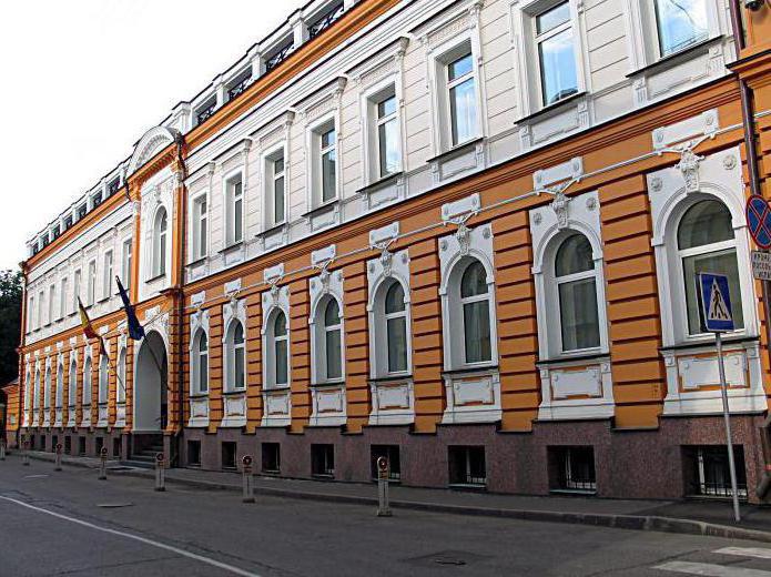
<path id="1" fill-rule="evenodd" d="M 16 455 L 18 456 L 18 454 Z M 30 453 L 30 459 L 53 462 L 53 455 Z M 62 465 L 97 468 L 81 459 L 63 458 Z M 110 468 L 108 467 L 108 470 Z M 114 475 L 136 478 L 152 478 L 152 469 L 115 470 Z M 184 485 L 211 490 L 240 492 L 240 484 L 217 483 L 202 479 L 186 479 L 173 476 L 166 477 L 166 483 Z M 254 487 L 255 494 L 294 499 L 321 500 L 327 503 L 347 503 L 352 505 L 377 505 L 376 497 L 363 497 L 361 495 L 341 495 L 334 493 L 314 493 L 310 490 L 283 489 L 280 487 Z M 569 523 L 575 525 L 588 525 L 594 527 L 608 527 L 629 530 L 652 530 L 659 533 L 677 533 L 683 535 L 701 535 L 706 537 L 722 537 L 727 539 L 744 539 L 759 543 L 771 543 L 771 532 L 760 529 L 747 529 L 731 527 L 693 519 L 676 517 L 661 517 L 656 515 L 617 515 L 609 513 L 568 513 L 559 510 L 530 510 L 530 509 L 500 509 L 468 505 L 450 505 L 444 503 L 417 502 L 417 500 L 390 500 L 392 508 L 423 510 L 428 513 L 446 513 L 453 515 L 476 515 L 483 517 L 499 517 L 508 519 L 523 519 L 541 523 Z"/>

